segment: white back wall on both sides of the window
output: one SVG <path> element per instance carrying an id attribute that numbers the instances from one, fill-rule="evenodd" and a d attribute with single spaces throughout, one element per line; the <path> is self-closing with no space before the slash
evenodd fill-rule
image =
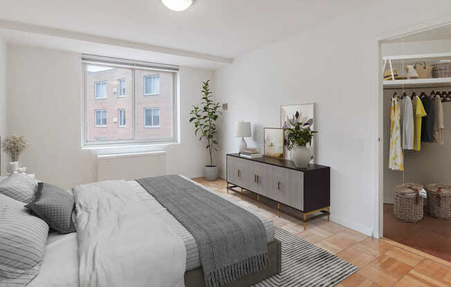
<path id="1" fill-rule="evenodd" d="M 0 74 L 1 75 L 1 74 Z M 81 66 L 73 52 L 8 46 L 8 133 L 25 135 L 30 148 L 21 163 L 37 178 L 63 188 L 97 179 L 97 161 L 81 149 Z M 211 70 L 181 68 L 181 143 L 167 148 L 166 171 L 200 177 L 206 162 L 187 123 Z"/>

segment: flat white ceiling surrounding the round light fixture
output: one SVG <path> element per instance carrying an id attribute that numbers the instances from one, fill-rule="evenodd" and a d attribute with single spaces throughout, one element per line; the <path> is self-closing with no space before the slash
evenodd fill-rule
<path id="1" fill-rule="evenodd" d="M 1 2 L 3 20 L 226 59 L 368 5 L 360 0 L 197 0 L 174 12 L 160 0 Z M 9 33 L 6 38 L 21 37 Z"/>

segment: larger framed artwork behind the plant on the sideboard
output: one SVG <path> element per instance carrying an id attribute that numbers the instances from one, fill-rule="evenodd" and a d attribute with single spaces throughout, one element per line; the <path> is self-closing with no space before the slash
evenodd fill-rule
<path id="1" fill-rule="evenodd" d="M 280 127 L 283 129 L 292 128 L 294 123 L 302 122 L 304 127 L 309 127 L 315 130 L 315 103 L 305 103 L 299 105 L 280 106 Z M 288 150 L 288 143 L 286 141 L 287 135 L 284 132 L 284 158 L 291 159 L 291 150 Z M 315 138 L 312 139 L 311 146 L 312 160 L 315 159 Z"/>

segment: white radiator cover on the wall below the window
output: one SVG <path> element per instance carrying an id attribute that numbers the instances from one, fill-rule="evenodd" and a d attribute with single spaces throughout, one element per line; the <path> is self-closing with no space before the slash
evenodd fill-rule
<path id="1" fill-rule="evenodd" d="M 98 155 L 98 181 L 142 179 L 166 174 L 166 152 Z"/>

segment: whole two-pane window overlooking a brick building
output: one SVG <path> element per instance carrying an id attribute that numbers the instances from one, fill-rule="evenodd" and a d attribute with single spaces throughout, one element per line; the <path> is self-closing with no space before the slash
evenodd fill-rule
<path id="1" fill-rule="evenodd" d="M 178 67 L 82 55 L 82 73 L 82 148 L 178 141 Z"/>

